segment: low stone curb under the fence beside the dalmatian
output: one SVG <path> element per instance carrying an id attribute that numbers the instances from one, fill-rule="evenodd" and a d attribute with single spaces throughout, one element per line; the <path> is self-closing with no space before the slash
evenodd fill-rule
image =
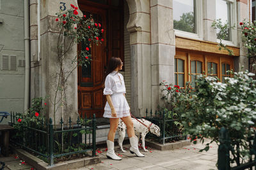
<path id="1" fill-rule="evenodd" d="M 182 140 L 182 141 L 177 141 L 175 143 L 165 143 L 160 144 L 160 143 L 156 143 L 154 141 L 150 141 L 148 139 L 145 139 L 145 145 L 150 146 L 152 148 L 155 148 L 157 150 L 174 150 L 177 148 L 182 148 L 183 146 L 188 146 L 191 145 L 189 140 Z"/>

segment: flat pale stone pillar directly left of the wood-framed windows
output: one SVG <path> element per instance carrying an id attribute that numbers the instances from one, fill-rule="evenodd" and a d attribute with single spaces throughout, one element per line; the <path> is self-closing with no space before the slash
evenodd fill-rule
<path id="1" fill-rule="evenodd" d="M 173 30 L 172 0 L 150 1 L 152 110 L 161 104 L 159 83 L 174 85 L 175 35 Z"/>

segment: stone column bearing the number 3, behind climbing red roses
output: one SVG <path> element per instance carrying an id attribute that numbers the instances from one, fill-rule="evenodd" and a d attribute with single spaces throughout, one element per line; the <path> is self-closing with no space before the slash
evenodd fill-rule
<path id="1" fill-rule="evenodd" d="M 60 70 L 58 59 L 57 59 L 57 39 L 59 35 L 59 29 L 57 27 L 56 13 L 61 9 L 70 9 L 70 3 L 77 6 L 76 0 L 68 1 L 63 0 L 60 4 L 58 0 L 41 0 L 40 1 L 40 62 L 38 62 L 40 72 L 38 72 L 38 77 L 42 80 L 42 84 L 38 85 L 41 90 L 42 97 L 49 96 L 47 101 L 48 110 L 47 116 L 54 117 L 54 109 L 51 101 L 54 101 L 54 94 L 57 88 L 58 76 L 57 73 Z M 78 10 L 79 11 L 79 10 Z M 79 16 L 83 16 L 81 11 L 79 11 Z M 59 21 L 60 22 L 60 21 Z M 68 39 L 65 38 L 65 44 L 69 43 Z M 33 53 L 31 53 L 33 55 Z M 77 45 L 72 46 L 71 50 L 65 55 L 64 66 L 65 71 L 68 71 L 75 65 L 72 64 L 72 59 L 77 55 Z M 33 58 L 33 56 L 32 56 Z M 36 57 L 35 57 L 36 58 Z M 31 85 L 36 87 L 36 82 L 31 81 Z M 33 83 L 35 83 L 33 85 Z M 38 88 L 37 87 L 37 88 Z M 75 123 L 77 120 L 77 69 L 75 69 L 70 77 L 68 78 L 66 85 L 66 106 L 60 106 L 56 113 L 56 124 L 60 123 L 60 118 L 63 117 L 63 121 L 67 123 L 68 118 L 72 118 L 72 122 Z M 60 91 L 59 91 L 60 93 Z M 51 99 L 51 100 L 50 100 Z M 60 99 L 60 96 L 58 96 Z M 60 103 L 59 103 L 60 104 Z M 58 106 L 57 106 L 58 107 Z M 64 115 L 62 115 L 62 107 L 64 107 Z"/>

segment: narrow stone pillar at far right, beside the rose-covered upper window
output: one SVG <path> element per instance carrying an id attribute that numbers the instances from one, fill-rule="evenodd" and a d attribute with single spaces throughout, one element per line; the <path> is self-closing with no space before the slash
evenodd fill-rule
<path id="1" fill-rule="evenodd" d="M 241 67 L 243 66 L 243 70 L 249 69 L 248 67 L 248 57 L 246 56 L 247 49 L 243 47 L 242 39 L 241 39 L 241 26 L 240 22 L 243 22 L 244 19 L 248 20 L 248 1 L 247 0 L 237 0 L 237 40 L 238 45 L 240 46 L 240 56 L 234 59 L 234 69 L 235 71 L 241 71 Z"/>

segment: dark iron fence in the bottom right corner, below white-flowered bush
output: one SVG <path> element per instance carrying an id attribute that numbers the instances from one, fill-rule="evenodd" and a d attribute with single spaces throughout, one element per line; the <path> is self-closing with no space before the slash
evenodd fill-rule
<path id="1" fill-rule="evenodd" d="M 242 170 L 242 169 L 253 169 L 256 166 L 256 133 L 254 134 L 254 139 L 252 143 L 252 139 L 248 139 L 248 144 L 250 146 L 250 155 L 254 158 L 250 157 L 248 162 L 241 163 L 239 145 L 237 145 L 236 149 L 236 164 L 235 167 L 230 167 L 230 151 L 234 148 L 230 145 L 230 138 L 228 136 L 228 131 L 225 127 L 221 127 L 219 133 L 220 145 L 218 147 L 218 169 L 219 170 Z"/>

